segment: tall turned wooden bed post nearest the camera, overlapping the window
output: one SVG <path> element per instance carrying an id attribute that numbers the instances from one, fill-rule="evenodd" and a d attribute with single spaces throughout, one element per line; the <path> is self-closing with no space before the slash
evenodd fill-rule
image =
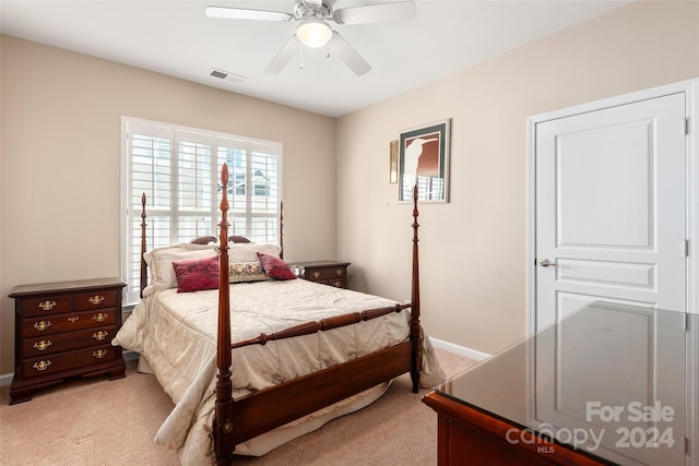
<path id="1" fill-rule="evenodd" d="M 218 465 L 228 465 L 233 443 L 233 384 L 230 382 L 230 297 L 228 288 L 228 165 L 221 170 L 221 255 L 218 259 L 218 333 L 216 337 L 216 407 L 214 413 L 214 452 Z"/>

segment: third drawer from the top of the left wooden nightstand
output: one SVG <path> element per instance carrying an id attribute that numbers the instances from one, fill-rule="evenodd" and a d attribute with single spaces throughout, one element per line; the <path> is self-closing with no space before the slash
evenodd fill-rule
<path id="1" fill-rule="evenodd" d="M 60 351 L 69 351 L 87 346 L 104 345 L 111 342 L 117 327 L 115 325 L 67 332 L 54 335 L 43 335 L 37 338 L 25 338 L 22 342 L 22 353 L 25 358 L 37 358 Z"/>

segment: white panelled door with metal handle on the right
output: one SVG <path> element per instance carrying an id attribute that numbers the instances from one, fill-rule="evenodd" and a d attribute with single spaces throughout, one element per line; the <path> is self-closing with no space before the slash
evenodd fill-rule
<path id="1" fill-rule="evenodd" d="M 685 119 L 676 93 L 535 124 L 532 330 L 591 301 L 687 310 Z"/>

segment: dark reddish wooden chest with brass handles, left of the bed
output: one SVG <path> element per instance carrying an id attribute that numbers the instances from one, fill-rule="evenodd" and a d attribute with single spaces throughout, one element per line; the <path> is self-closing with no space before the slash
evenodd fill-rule
<path id="1" fill-rule="evenodd" d="M 73 375 L 125 377 L 121 347 L 111 338 L 121 326 L 118 278 L 21 285 L 14 299 L 14 378 L 10 404 Z"/>

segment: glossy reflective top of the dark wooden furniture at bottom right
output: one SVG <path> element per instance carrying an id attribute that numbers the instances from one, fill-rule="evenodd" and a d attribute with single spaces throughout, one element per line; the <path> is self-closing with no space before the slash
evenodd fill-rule
<path id="1" fill-rule="evenodd" d="M 601 458 L 673 466 L 699 464 L 698 377 L 699 314 L 593 303 L 436 390 Z"/>

